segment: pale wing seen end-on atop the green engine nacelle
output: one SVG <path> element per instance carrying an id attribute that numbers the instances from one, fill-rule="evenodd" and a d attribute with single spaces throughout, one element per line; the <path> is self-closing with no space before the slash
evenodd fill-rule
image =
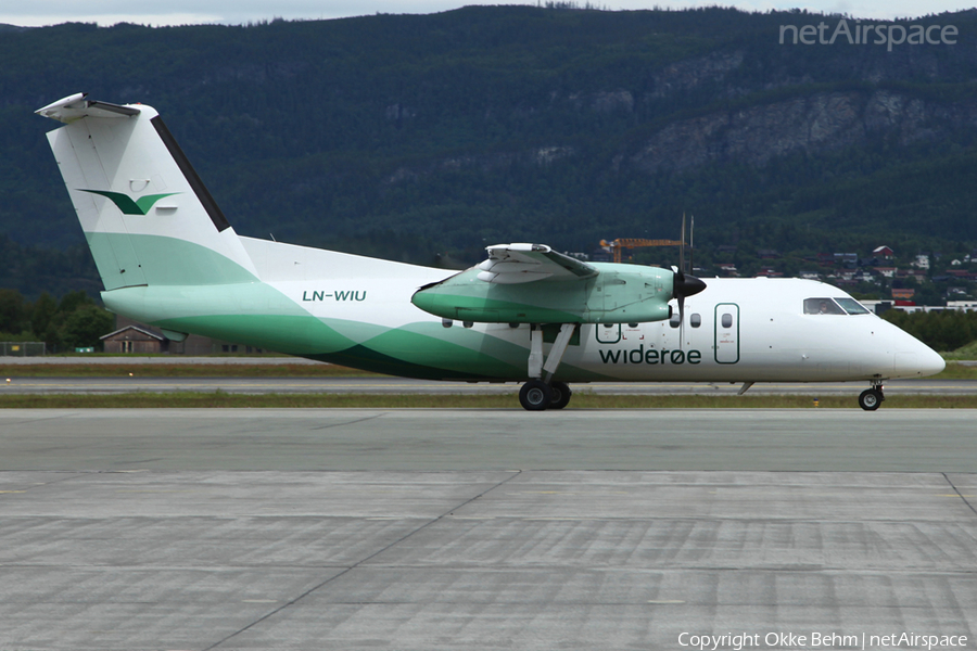
<path id="1" fill-rule="evenodd" d="M 537 280 L 584 280 L 597 269 L 545 244 L 496 244 L 486 246 L 488 259 L 478 265 L 478 279 L 497 284 Z"/>

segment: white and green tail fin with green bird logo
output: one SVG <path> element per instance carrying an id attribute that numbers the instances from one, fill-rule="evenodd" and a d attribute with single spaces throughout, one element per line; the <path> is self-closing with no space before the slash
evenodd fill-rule
<path id="1" fill-rule="evenodd" d="M 158 113 L 78 93 L 37 111 L 105 290 L 253 282 L 240 239 Z"/>

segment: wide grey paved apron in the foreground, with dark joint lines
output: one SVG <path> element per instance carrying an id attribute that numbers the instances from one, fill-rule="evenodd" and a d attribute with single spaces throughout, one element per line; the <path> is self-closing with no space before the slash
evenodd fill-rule
<path id="1" fill-rule="evenodd" d="M 974 649 L 975 417 L 0 410 L 0 649 Z"/>

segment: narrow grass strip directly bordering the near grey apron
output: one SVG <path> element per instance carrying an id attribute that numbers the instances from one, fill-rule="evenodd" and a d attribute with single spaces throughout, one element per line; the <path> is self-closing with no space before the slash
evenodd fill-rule
<path id="1" fill-rule="evenodd" d="M 359 408 L 359 409 L 521 409 L 516 393 L 497 395 L 428 394 L 230 394 L 216 392 L 58 394 L 0 396 L 0 409 L 114 408 Z M 977 396 L 889 396 L 887 409 L 977 409 Z M 568 409 L 858 409 L 855 396 L 827 396 L 815 406 L 810 396 L 640 396 L 573 394 Z"/>

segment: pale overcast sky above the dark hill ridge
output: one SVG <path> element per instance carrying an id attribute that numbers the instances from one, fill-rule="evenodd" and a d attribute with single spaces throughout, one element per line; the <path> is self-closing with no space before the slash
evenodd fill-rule
<path id="1" fill-rule="evenodd" d="M 972 3 L 974 0 L 969 0 Z M 545 0 L 544 0 L 545 2 Z M 578 4 L 585 4 L 579 0 Z M 536 0 L 0 0 L 0 23 L 22 26 L 56 25 L 68 21 L 110 26 L 128 22 L 141 25 L 191 25 L 221 23 L 241 25 L 282 17 L 339 18 L 375 13 L 435 13 L 466 4 L 536 4 Z M 701 5 L 732 5 L 746 11 L 800 8 L 825 13 L 847 13 L 861 18 L 917 17 L 929 13 L 968 9 L 966 0 L 591 0 L 600 9 L 686 9 Z"/>

